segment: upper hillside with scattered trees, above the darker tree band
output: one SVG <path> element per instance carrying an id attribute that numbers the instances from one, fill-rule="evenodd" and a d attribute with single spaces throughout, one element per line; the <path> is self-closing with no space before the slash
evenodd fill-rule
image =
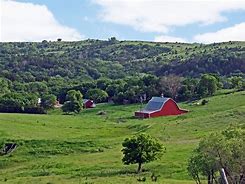
<path id="1" fill-rule="evenodd" d="M 245 72 L 245 42 L 216 44 L 84 40 L 0 43 L 0 77 L 18 82 L 69 82 L 150 73 L 198 77 Z"/>

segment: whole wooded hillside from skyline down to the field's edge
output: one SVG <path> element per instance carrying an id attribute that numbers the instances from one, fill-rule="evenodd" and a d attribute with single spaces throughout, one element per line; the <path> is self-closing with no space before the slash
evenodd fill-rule
<path id="1" fill-rule="evenodd" d="M 40 97 L 64 103 L 69 90 L 96 102 L 134 103 L 161 93 L 191 100 L 218 88 L 244 89 L 244 73 L 245 42 L 0 43 L 0 111 L 29 112 L 24 107 L 36 107 Z"/>

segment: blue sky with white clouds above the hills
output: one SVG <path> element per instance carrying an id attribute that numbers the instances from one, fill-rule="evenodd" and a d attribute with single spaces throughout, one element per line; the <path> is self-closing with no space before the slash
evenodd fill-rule
<path id="1" fill-rule="evenodd" d="M 245 41 L 245 0 L 0 0 L 0 41 Z"/>

